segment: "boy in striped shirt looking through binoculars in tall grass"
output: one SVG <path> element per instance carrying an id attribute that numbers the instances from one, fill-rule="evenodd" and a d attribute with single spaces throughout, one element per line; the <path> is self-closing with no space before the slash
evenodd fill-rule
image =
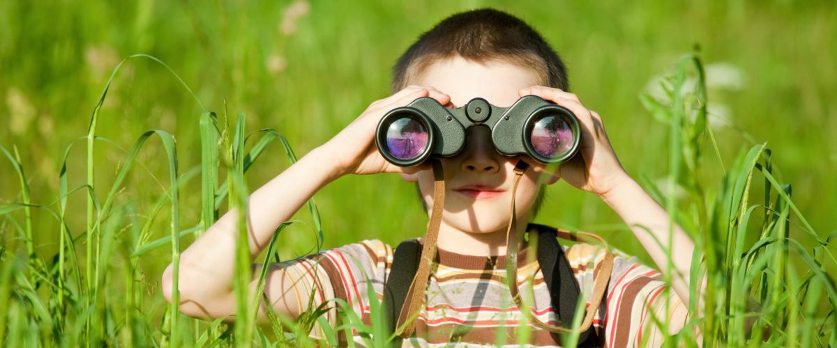
<path id="1" fill-rule="evenodd" d="M 449 108 L 459 108 L 477 97 L 507 107 L 531 94 L 568 108 L 577 116 L 583 129 L 579 153 L 557 171 L 551 171 L 527 156 L 498 154 L 489 129 L 475 126 L 467 129 L 465 149 L 460 154 L 437 159 L 446 187 L 438 225 L 438 258 L 413 322 L 414 333 L 404 344 L 493 345 L 496 330 L 503 325 L 512 326 L 505 341 L 516 341 L 513 327 L 521 319 L 521 312 L 506 286 L 504 264 L 518 160 L 529 164 L 529 169 L 516 185 L 516 234 L 532 228 L 527 223 L 537 212 L 542 186 L 564 179 L 608 203 L 631 226 L 660 269 L 668 267 L 664 250 L 672 249 L 675 291 L 670 292 L 670 299 L 661 295 L 664 284 L 659 272 L 621 254 L 612 262 L 606 293 L 603 298 L 594 299 L 593 279 L 603 269 L 607 253 L 587 244 L 563 249 L 587 304 L 600 303 L 593 308 L 592 334 L 586 335 L 583 343 L 625 346 L 646 340 L 650 345 L 660 345 L 663 333 L 652 324 L 650 311 L 667 321 L 672 333 L 682 327 L 686 320 L 683 304 L 689 301 L 689 280 L 679 275 L 690 274 L 694 245 L 676 227 L 671 236 L 673 243 L 668 245 L 669 218 L 665 210 L 625 173 L 598 114 L 585 108 L 576 95 L 566 92 L 563 64 L 539 34 L 520 19 L 495 10 L 455 14 L 413 43 L 398 60 L 393 75 L 393 90 L 398 92 L 372 103 L 346 129 L 251 195 L 249 247 L 254 257 L 264 249 L 280 223 L 290 219 L 318 189 L 341 175 L 399 173 L 403 179 L 417 183 L 430 214 L 434 206 L 434 173 L 430 164 L 402 168 L 388 163 L 378 153 L 373 139 L 375 129 L 389 110 L 421 97 L 434 98 Z M 183 252 L 179 281 L 183 313 L 204 318 L 234 314 L 235 219 L 233 211 L 225 214 Z M 548 325 L 571 326 L 566 320 L 558 322 L 542 265 L 526 257 L 533 250 L 528 250 L 525 243 L 511 247 L 520 250 L 520 274 L 531 278 L 528 287 L 525 280 L 518 280 L 521 294 L 534 294 L 531 315 Z M 376 295 L 383 298 L 392 264 L 391 246 L 379 240 L 364 240 L 321 255 L 270 265 L 265 295 L 275 310 L 295 317 L 306 310 L 311 289 L 315 288 L 315 305 L 340 298 L 352 304 L 368 322 L 367 287 L 372 286 Z M 170 284 L 171 265 L 163 275 L 162 286 L 168 300 Z M 666 300 L 671 305 L 668 313 L 663 308 Z M 329 320 L 335 320 L 333 311 Z M 530 340 L 538 346 L 561 344 L 561 337 L 555 332 L 539 328 L 534 329 Z"/>

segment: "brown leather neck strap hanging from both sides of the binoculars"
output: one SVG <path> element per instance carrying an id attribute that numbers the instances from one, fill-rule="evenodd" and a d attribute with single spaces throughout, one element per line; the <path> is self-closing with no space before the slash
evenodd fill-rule
<path id="1" fill-rule="evenodd" d="M 439 226 L 442 222 L 442 212 L 444 210 L 444 170 L 442 169 L 442 164 L 438 160 L 431 159 L 431 163 L 433 164 L 434 175 L 433 210 L 430 213 L 427 235 L 424 236 L 424 245 L 422 247 L 421 259 L 419 260 L 419 270 L 416 271 L 416 275 L 413 277 L 413 282 L 410 284 L 407 292 L 407 300 L 405 301 L 405 305 L 401 308 L 401 313 L 398 315 L 398 325 L 395 327 L 396 332 L 398 332 L 398 336 L 403 338 L 413 335 L 413 332 L 415 331 L 416 318 L 421 312 L 422 305 L 424 305 L 424 291 L 427 289 L 430 267 L 433 264 L 433 260 L 436 258 L 436 241 L 439 240 Z M 518 161 L 515 166 L 514 186 L 511 189 L 511 213 L 509 226 L 508 229 L 506 229 L 506 285 L 509 286 L 511 297 L 514 299 L 515 304 L 519 309 L 531 308 L 531 305 L 523 305 L 520 291 L 517 288 L 517 250 L 518 245 L 520 245 L 523 239 L 523 235 L 518 234 L 516 230 L 517 214 L 515 210 L 517 184 L 520 183 L 521 177 L 524 173 L 526 173 L 526 169 L 528 168 L 529 165 L 523 161 Z M 602 267 L 598 271 L 598 275 L 596 275 L 593 280 L 593 294 L 590 297 L 590 306 L 588 307 L 586 315 L 584 315 L 584 320 L 577 329 L 579 331 L 584 331 L 588 330 L 590 325 L 593 323 L 593 316 L 596 314 L 602 298 L 604 297 L 604 291 L 607 288 L 608 279 L 610 278 L 610 273 L 614 265 L 614 255 L 607 251 L 607 243 L 598 237 L 598 235 L 583 232 L 579 232 L 578 234 L 593 237 L 594 239 L 600 241 L 606 250 L 604 253 Z M 549 330 L 552 332 L 574 331 L 573 329 L 567 327 L 548 325 L 543 323 L 541 320 L 538 320 L 537 317 L 533 315 L 531 316 L 531 321 L 534 325 L 543 330 Z M 562 324 L 567 325 L 570 323 Z M 398 328 L 402 328 L 402 330 L 398 330 Z"/>

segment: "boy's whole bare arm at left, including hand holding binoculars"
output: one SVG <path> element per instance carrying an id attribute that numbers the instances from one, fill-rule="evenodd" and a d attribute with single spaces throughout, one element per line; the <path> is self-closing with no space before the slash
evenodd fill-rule
<path id="1" fill-rule="evenodd" d="M 401 168 L 389 164 L 374 145 L 375 128 L 388 110 L 401 107 L 416 98 L 431 97 L 443 105 L 449 96 L 434 88 L 410 86 L 388 98 L 372 103 L 326 144 L 312 150 L 290 168 L 254 191 L 249 197 L 247 216 L 251 260 L 261 253 L 275 229 L 290 219 L 302 204 L 332 180 L 345 174 L 407 173 L 421 166 Z M 238 212 L 231 209 L 213 224 L 187 250 L 183 251 L 178 270 L 180 310 L 187 315 L 219 318 L 236 310 L 233 290 L 234 256 Z M 254 265 L 258 275 L 261 265 Z M 294 282 L 278 265 L 270 265 L 265 295 L 275 310 L 296 317 L 300 304 L 307 304 L 310 293 L 296 295 Z M 257 280 L 250 282 L 254 291 Z M 172 300 L 172 265 L 162 275 L 166 300 Z M 260 295 L 260 294 L 259 294 Z M 262 312 L 264 308 L 260 308 Z"/>

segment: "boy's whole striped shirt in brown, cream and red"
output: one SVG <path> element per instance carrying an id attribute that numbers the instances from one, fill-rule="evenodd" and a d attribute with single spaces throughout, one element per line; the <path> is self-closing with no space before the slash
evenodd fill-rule
<path id="1" fill-rule="evenodd" d="M 593 278 L 598 274 L 604 252 L 588 244 L 562 247 L 578 280 L 581 295 L 589 306 Z M 528 251 L 524 245 L 518 255 L 517 281 L 521 295 L 533 299 L 527 301 L 532 304 L 530 315 L 557 325 L 557 315 L 552 310 L 540 266 Z M 686 322 L 686 305 L 673 290 L 667 290 L 659 271 L 640 265 L 636 257 L 619 250 L 612 252 L 614 267 L 605 299 L 593 317 L 598 345 L 661 345 L 665 335 L 656 323 L 666 322 L 669 329 L 676 332 Z M 506 286 L 505 259 L 505 256 L 460 255 L 439 250 L 438 264 L 430 275 L 425 306 L 417 319 L 415 334 L 404 340 L 403 345 L 517 345 L 517 334 L 521 333 L 519 323 L 524 318 Z M 369 295 L 373 293 L 376 298 L 372 300 L 378 302 L 383 299 L 383 286 L 392 263 L 391 246 L 380 240 L 363 240 L 289 261 L 282 267 L 291 279 L 297 280 L 297 291 L 315 291 L 315 305 L 334 298 L 345 300 L 369 325 L 372 318 Z M 331 310 L 327 316 L 331 325 L 335 325 L 336 311 Z M 321 335 L 317 331 L 318 328 L 312 335 Z M 358 336 L 354 340 L 362 343 Z M 527 341 L 529 346 L 560 346 L 562 337 L 531 325 Z"/>

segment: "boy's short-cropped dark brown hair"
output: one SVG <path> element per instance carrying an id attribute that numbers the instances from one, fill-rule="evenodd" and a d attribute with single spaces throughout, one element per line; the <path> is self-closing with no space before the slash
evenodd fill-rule
<path id="1" fill-rule="evenodd" d="M 548 87 L 569 90 L 567 68 L 535 29 L 511 14 L 482 8 L 456 13 L 421 34 L 393 66 L 393 93 L 407 87 L 430 64 L 456 56 L 475 62 L 514 63 L 530 68 Z M 540 210 L 546 193 L 541 186 L 532 206 L 532 218 Z M 424 206 L 419 184 L 416 191 Z"/>

